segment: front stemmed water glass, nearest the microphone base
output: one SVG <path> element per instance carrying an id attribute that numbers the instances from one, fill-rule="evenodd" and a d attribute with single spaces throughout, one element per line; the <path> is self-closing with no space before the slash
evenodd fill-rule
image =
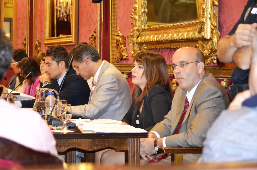
<path id="1" fill-rule="evenodd" d="M 63 129 L 62 131 L 66 131 L 66 123 L 70 121 L 71 119 L 71 104 L 60 104 L 59 110 L 58 110 L 58 116 L 61 122 L 63 122 Z"/>

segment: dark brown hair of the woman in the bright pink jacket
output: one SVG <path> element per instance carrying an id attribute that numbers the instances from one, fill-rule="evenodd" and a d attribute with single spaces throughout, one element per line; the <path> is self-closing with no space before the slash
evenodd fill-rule
<path id="1" fill-rule="evenodd" d="M 23 58 L 17 65 L 21 69 L 22 77 L 25 77 L 27 74 L 31 72 L 31 76 L 28 78 L 28 84 L 31 85 L 34 83 L 35 79 L 41 75 L 39 63 L 29 57 Z"/>

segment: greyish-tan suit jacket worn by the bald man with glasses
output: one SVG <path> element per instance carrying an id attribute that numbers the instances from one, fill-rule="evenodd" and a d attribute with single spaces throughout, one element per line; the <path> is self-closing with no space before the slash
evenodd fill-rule
<path id="1" fill-rule="evenodd" d="M 190 115 L 188 117 L 186 131 L 172 135 L 177 126 L 177 122 L 174 123 L 174 120 L 172 120 L 175 119 L 174 114 L 176 113 L 174 113 L 174 110 L 171 110 L 169 114 L 164 117 L 164 120 L 157 124 L 152 130 L 157 131 L 160 137 L 167 136 L 167 146 L 202 147 L 207 130 L 221 111 L 225 110 L 227 107 L 228 103 L 226 103 L 225 106 L 223 95 L 220 90 L 202 84 L 201 88 L 197 91 L 194 101 L 191 101 L 193 103 L 191 108 L 189 108 Z M 175 97 L 174 99 L 176 100 Z"/>

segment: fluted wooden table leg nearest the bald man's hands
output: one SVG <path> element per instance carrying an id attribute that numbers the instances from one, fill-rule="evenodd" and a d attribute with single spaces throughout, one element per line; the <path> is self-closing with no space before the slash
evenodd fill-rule
<path id="1" fill-rule="evenodd" d="M 128 139 L 128 166 L 140 166 L 140 139 Z"/>

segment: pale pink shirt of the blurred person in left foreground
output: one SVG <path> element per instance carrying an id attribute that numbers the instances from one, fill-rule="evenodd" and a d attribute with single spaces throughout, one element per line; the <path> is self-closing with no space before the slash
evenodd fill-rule
<path id="1" fill-rule="evenodd" d="M 16 108 L 0 100 L 0 117 L 0 137 L 36 151 L 58 156 L 53 134 L 38 112 Z"/>

